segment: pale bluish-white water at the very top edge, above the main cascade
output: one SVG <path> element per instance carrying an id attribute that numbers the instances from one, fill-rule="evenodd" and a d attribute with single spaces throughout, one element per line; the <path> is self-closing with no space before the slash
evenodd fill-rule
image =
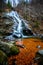
<path id="1" fill-rule="evenodd" d="M 8 1 L 10 2 L 12 7 L 17 7 L 17 5 L 22 2 L 31 3 L 32 0 L 4 0 L 6 4 L 8 3 Z"/>

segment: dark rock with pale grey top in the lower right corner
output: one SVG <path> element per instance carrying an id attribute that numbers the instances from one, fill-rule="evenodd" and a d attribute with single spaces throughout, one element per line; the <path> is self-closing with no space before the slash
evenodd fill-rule
<path id="1" fill-rule="evenodd" d="M 38 65 L 43 65 L 43 50 L 36 52 L 35 61 Z"/>

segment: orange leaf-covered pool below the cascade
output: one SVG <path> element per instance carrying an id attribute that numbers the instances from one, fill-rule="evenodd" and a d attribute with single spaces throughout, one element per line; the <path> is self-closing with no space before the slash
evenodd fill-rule
<path id="1" fill-rule="evenodd" d="M 14 65 L 15 59 L 16 65 L 37 65 L 34 63 L 35 54 L 38 50 L 43 49 L 43 42 L 40 39 L 29 38 L 18 40 L 16 44 L 23 44 L 24 48 L 19 47 L 20 53 L 9 58 L 9 65 Z M 41 47 L 37 48 L 39 45 Z"/>

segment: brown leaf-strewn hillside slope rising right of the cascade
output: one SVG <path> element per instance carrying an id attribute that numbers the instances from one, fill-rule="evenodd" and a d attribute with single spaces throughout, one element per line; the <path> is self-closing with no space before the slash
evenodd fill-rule
<path id="1" fill-rule="evenodd" d="M 22 3 L 15 8 L 24 19 L 29 21 L 32 30 L 37 34 L 43 34 L 43 5 Z"/>

